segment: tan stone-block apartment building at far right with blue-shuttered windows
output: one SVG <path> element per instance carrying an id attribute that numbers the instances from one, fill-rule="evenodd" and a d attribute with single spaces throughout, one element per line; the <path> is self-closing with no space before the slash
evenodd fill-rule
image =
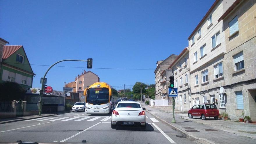
<path id="1" fill-rule="evenodd" d="M 219 107 L 232 120 L 244 111 L 256 121 L 256 1 L 236 0 L 218 21 L 223 22 L 226 43 L 225 93 Z"/>

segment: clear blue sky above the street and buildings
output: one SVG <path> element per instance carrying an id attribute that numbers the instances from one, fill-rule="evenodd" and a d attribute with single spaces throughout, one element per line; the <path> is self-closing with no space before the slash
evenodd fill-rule
<path id="1" fill-rule="evenodd" d="M 214 0 L 0 1 L 0 37 L 23 45 L 33 87 L 49 66 L 63 59 L 93 58 L 95 68 L 155 69 L 156 62 L 179 54 Z M 86 67 L 86 62 L 59 66 Z M 47 85 L 63 90 L 86 68 L 53 67 Z M 154 83 L 154 70 L 90 69 L 112 86 Z M 121 87 L 115 87 L 122 89 Z M 126 88 L 132 88 L 127 86 Z"/>

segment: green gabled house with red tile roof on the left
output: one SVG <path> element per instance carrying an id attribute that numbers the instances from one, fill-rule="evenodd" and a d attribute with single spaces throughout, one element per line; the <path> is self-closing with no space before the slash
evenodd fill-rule
<path id="1" fill-rule="evenodd" d="M 3 46 L 0 83 L 13 81 L 24 88 L 31 88 L 34 75 L 22 45 Z"/>

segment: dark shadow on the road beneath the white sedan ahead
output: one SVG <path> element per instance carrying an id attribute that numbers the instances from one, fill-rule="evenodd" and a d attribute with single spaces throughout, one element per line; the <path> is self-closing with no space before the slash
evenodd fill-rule
<path id="1" fill-rule="evenodd" d="M 154 128 L 146 123 L 146 129 L 142 129 L 140 126 L 130 126 L 130 125 L 119 125 L 116 126 L 116 130 L 125 130 L 125 131 L 154 131 Z"/>

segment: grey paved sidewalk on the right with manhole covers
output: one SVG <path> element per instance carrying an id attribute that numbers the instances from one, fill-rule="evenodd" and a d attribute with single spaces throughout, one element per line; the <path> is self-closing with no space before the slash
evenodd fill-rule
<path id="1" fill-rule="evenodd" d="M 167 125 L 170 125 L 173 129 L 182 132 L 187 138 L 196 140 L 198 143 L 256 143 L 255 134 L 245 133 L 242 136 L 238 135 L 243 133 L 239 131 L 255 131 L 256 125 L 251 123 L 248 124 L 210 119 L 203 121 L 199 118 L 187 120 L 186 113 L 175 113 L 176 123 L 173 124 L 171 123 L 173 118 L 172 113 L 159 111 L 158 109 L 154 109 L 144 103 L 141 103 L 141 105 L 146 108 L 147 112 L 151 113 Z M 231 129 L 232 131 L 224 131 L 223 129 Z"/>

